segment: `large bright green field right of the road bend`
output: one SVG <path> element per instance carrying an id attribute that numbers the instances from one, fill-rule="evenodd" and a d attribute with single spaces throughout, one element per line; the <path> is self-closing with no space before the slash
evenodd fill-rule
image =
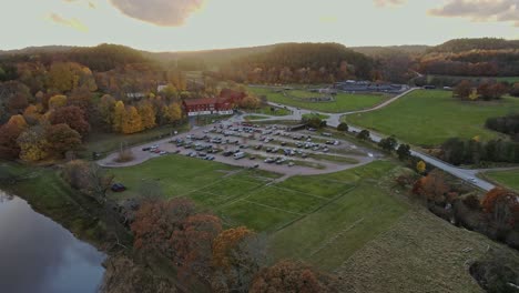
<path id="1" fill-rule="evenodd" d="M 417 90 L 394 103 L 368 113 L 346 117 L 346 122 L 424 146 L 439 145 L 449 138 L 481 140 L 502 137 L 485 128 L 490 117 L 519 111 L 519 99 L 468 102 L 452 98 L 450 91 Z"/>

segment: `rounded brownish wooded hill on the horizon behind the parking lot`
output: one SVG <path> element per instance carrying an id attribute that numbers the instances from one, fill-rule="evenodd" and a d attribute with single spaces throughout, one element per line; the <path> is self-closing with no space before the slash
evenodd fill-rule
<path id="1" fill-rule="evenodd" d="M 317 83 L 372 79 L 373 60 L 337 43 L 286 43 L 230 62 L 224 79 L 246 83 Z"/>

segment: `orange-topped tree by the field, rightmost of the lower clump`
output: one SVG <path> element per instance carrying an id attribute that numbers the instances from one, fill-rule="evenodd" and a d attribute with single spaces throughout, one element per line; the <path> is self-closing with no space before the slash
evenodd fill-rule
<path id="1" fill-rule="evenodd" d="M 254 232 L 245 226 L 223 231 L 213 244 L 213 290 L 247 292 L 264 260 L 263 239 Z"/>

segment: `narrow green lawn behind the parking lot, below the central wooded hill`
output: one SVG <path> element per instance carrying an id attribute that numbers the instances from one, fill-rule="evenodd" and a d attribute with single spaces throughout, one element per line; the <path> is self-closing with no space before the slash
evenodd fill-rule
<path id="1" fill-rule="evenodd" d="M 265 88 L 248 88 L 248 90 L 258 95 L 266 95 L 267 100 L 271 102 L 328 113 L 340 113 L 368 109 L 384 102 L 389 98 L 389 95 L 384 94 L 338 93 L 335 95 L 334 102 L 305 102 L 292 99 L 288 95 L 292 94 L 301 99 L 307 99 L 311 97 L 318 97 L 319 93 L 294 90 L 288 91 L 287 97 L 285 97 L 281 92 L 274 92 L 273 90 Z"/>

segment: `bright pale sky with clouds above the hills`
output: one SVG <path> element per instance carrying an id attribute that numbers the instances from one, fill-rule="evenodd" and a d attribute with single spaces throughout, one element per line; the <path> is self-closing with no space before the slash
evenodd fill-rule
<path id="1" fill-rule="evenodd" d="M 0 0 L 0 50 L 118 43 L 147 51 L 519 39 L 519 0 Z"/>

